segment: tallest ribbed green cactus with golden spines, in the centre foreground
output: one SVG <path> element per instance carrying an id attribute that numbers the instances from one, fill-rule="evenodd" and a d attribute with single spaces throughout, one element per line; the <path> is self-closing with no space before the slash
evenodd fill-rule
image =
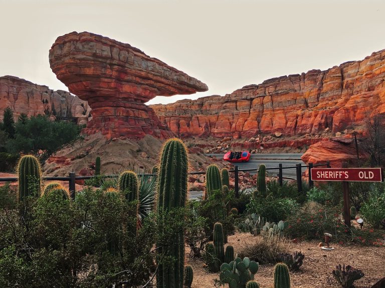
<path id="1" fill-rule="evenodd" d="M 177 138 L 168 139 L 163 144 L 160 155 L 157 210 L 184 207 L 187 197 L 188 156 L 184 143 Z M 170 247 L 161 247 L 159 253 L 176 259 L 171 264 L 159 263 L 156 273 L 158 288 L 180 288 L 184 272 L 184 231 L 180 231 Z"/>

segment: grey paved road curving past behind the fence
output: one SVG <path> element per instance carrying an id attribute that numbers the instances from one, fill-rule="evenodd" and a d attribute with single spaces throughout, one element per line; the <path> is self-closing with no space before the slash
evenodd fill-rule
<path id="1" fill-rule="evenodd" d="M 207 156 L 214 156 L 219 159 L 223 159 L 224 154 L 206 154 Z M 266 168 L 278 167 L 279 163 L 282 163 L 282 167 L 295 166 L 298 163 L 305 165 L 301 160 L 302 153 L 279 153 L 279 154 L 251 154 L 248 162 L 232 163 L 237 164 L 239 169 L 252 169 L 258 168 L 260 164 L 265 164 Z M 306 167 L 302 167 L 302 171 L 306 171 Z M 267 173 L 271 175 L 277 175 L 278 169 L 267 169 Z M 256 171 L 250 171 L 250 174 L 255 174 Z M 284 177 L 296 177 L 295 168 L 283 169 Z"/>

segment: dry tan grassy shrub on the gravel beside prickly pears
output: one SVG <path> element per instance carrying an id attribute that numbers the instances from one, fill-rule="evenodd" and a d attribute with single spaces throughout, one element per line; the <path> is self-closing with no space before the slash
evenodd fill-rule
<path id="1" fill-rule="evenodd" d="M 239 248 L 238 256 L 249 257 L 260 264 L 275 263 L 280 253 L 289 248 L 289 241 L 279 234 L 265 233 L 259 236 L 244 238 L 244 244 Z"/>

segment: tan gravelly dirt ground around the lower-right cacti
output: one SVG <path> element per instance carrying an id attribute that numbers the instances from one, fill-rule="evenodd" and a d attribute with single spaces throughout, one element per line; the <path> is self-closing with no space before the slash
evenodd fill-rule
<path id="1" fill-rule="evenodd" d="M 245 243 L 245 239 L 249 237 L 253 236 L 250 233 L 237 233 L 229 236 L 228 244 L 233 245 L 234 251 L 237 252 Z M 369 288 L 385 276 L 385 247 L 341 246 L 332 243 L 335 249 L 325 251 L 318 247 L 318 243 L 315 241 L 290 243 L 288 252 L 302 251 L 305 254 L 301 270 L 299 272 L 290 271 L 292 288 L 340 287 L 331 271 L 337 264 L 343 263 L 350 264 L 365 273 L 364 277 L 354 282 L 356 288 Z M 194 281 L 191 288 L 215 287 L 214 279 L 219 279 L 219 273 L 208 272 L 201 259 L 189 258 L 188 250 L 186 251 L 186 264 L 193 266 L 194 270 Z M 261 288 L 273 287 L 273 279 L 274 265 L 260 265 L 255 274 L 255 280 Z"/>

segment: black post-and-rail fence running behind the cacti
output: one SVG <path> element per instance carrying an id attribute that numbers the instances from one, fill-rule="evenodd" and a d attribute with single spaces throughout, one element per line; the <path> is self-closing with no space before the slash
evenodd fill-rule
<path id="1" fill-rule="evenodd" d="M 326 161 L 326 163 L 320 163 L 320 164 L 309 163 L 309 165 L 302 165 L 301 163 L 299 163 L 299 164 L 296 164 L 295 166 L 286 166 L 286 167 L 283 167 L 282 164 L 280 163 L 278 167 L 267 167 L 266 170 L 277 170 L 278 169 L 277 176 L 273 175 L 273 177 L 278 178 L 278 182 L 281 186 L 283 185 L 283 179 L 297 180 L 297 189 L 298 189 L 298 192 L 301 192 L 302 191 L 302 167 L 308 168 L 309 186 L 313 187 L 313 180 L 311 179 L 311 172 L 310 171 L 311 171 L 311 168 L 319 167 L 319 166 L 327 166 L 328 168 L 330 168 L 330 163 L 329 163 L 329 161 Z M 283 169 L 294 169 L 294 168 L 296 169 L 296 178 L 283 176 Z M 239 172 L 252 172 L 252 171 L 258 172 L 258 169 L 259 168 L 239 169 L 238 165 L 235 165 L 234 169 L 229 170 L 229 172 L 232 172 L 232 173 L 234 172 L 234 191 L 235 191 L 236 197 L 239 196 Z M 189 175 L 202 175 L 202 174 L 206 174 L 206 172 L 195 171 L 195 172 L 189 172 L 188 174 Z M 148 173 L 148 174 L 139 174 L 138 176 L 141 177 L 141 176 L 154 176 L 154 175 L 155 174 Z M 116 178 L 119 175 L 102 175 L 102 176 L 104 178 Z M 76 176 L 75 172 L 70 172 L 69 176 L 43 177 L 43 179 L 48 180 L 48 181 L 50 181 L 50 180 L 68 181 L 68 188 L 69 188 L 69 191 L 71 193 L 71 197 L 75 198 L 75 193 L 76 193 L 75 182 L 76 182 L 76 180 L 87 180 L 87 179 L 91 179 L 93 177 L 95 177 L 95 175 L 93 175 L 93 176 Z M 14 182 L 17 180 L 18 180 L 17 177 L 0 178 L 0 182 Z"/>

